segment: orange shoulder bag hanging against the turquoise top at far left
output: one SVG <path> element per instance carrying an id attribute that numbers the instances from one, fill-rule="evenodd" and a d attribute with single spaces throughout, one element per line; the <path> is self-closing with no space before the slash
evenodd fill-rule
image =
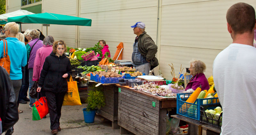
<path id="1" fill-rule="evenodd" d="M 10 57 L 8 55 L 8 47 L 7 47 L 7 41 L 3 40 L 4 42 L 4 57 L 0 59 L 0 66 L 4 67 L 5 70 L 10 74 Z M 5 53 L 5 44 L 6 44 L 6 53 Z"/>

